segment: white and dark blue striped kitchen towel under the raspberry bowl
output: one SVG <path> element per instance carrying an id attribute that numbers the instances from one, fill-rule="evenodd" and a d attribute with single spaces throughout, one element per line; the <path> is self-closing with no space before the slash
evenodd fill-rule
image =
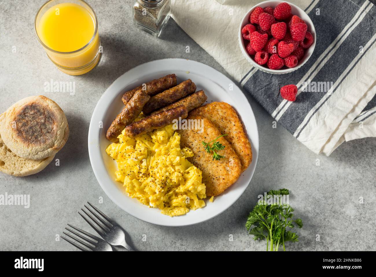
<path id="1" fill-rule="evenodd" d="M 237 46 L 240 20 L 259 1 L 228 0 L 228 5 L 221 6 L 213 0 L 210 8 L 213 10 L 206 9 L 206 12 L 211 14 L 209 20 L 219 22 L 219 26 L 209 23 L 205 31 L 189 26 L 200 17 L 197 15 L 200 2 L 192 1 L 173 3 L 173 17 L 179 26 L 313 152 L 329 156 L 344 141 L 376 136 L 376 7 L 373 3 L 368 0 L 291 1 L 305 9 L 313 21 L 315 50 L 298 70 L 271 75 L 244 61 Z M 185 6 L 189 12 L 177 12 L 179 6 Z M 229 11 L 236 18 L 229 16 Z M 217 41 L 221 41 L 220 46 L 216 45 Z M 297 85 L 296 101 L 280 96 L 279 89 L 286 84 Z"/>

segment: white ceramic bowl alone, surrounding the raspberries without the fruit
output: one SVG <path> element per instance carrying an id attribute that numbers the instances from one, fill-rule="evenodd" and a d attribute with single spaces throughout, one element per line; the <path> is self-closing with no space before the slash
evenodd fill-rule
<path id="1" fill-rule="evenodd" d="M 287 69 L 279 69 L 279 70 L 269 69 L 266 66 L 264 67 L 264 66 L 256 63 L 251 58 L 251 56 L 247 53 L 246 44 L 244 43 L 245 40 L 244 40 L 244 38 L 241 34 L 241 29 L 243 29 L 243 27 L 245 25 L 249 24 L 249 16 L 256 7 L 261 7 L 261 8 L 272 7 L 272 8 L 275 8 L 279 3 L 283 3 L 283 2 L 286 2 L 291 6 L 291 13 L 293 15 L 297 15 L 305 21 L 305 23 L 307 24 L 307 27 L 308 27 L 307 31 L 311 32 L 311 34 L 313 35 L 313 44 L 308 49 L 305 49 L 304 57 L 302 58 L 302 60 L 300 60 L 298 62 L 296 67 L 287 68 Z M 241 20 L 238 37 L 239 37 L 239 45 L 240 45 L 241 52 L 243 52 L 243 55 L 244 55 L 244 57 L 246 57 L 247 61 L 249 61 L 257 69 L 259 69 L 263 72 L 266 72 L 266 73 L 271 73 L 271 74 L 285 74 L 285 73 L 290 73 L 290 72 L 297 70 L 299 67 L 301 67 L 303 64 L 305 64 L 306 61 L 308 61 L 308 59 L 311 57 L 311 55 L 312 55 L 312 53 L 315 49 L 315 45 L 316 45 L 316 31 L 315 31 L 315 26 L 313 26 L 311 18 L 309 18 L 308 14 L 306 14 L 298 6 L 296 6 L 296 5 L 294 5 L 290 2 L 287 2 L 287 1 L 275 1 L 275 0 L 264 1 L 264 2 L 258 3 L 257 5 L 253 6 L 252 8 L 250 8 L 250 10 L 246 13 L 246 15 L 244 15 L 243 19 Z"/>

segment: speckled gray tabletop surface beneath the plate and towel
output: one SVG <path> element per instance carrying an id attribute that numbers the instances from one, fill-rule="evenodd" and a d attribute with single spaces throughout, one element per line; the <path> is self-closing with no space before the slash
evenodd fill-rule
<path id="1" fill-rule="evenodd" d="M 0 2 L 0 111 L 26 96 L 43 94 L 61 106 L 70 126 L 68 142 L 56 155 L 60 166 L 52 163 L 24 178 L 0 174 L 0 194 L 30 194 L 30 208 L 0 205 L 0 250 L 75 250 L 56 241 L 56 234 L 68 222 L 90 230 L 77 214 L 88 200 L 117 220 L 138 250 L 264 250 L 265 243 L 254 242 L 244 223 L 258 194 L 282 187 L 290 189 L 290 204 L 304 222 L 300 242 L 287 249 L 376 250 L 370 243 L 376 240 L 376 139 L 345 143 L 329 158 L 316 156 L 279 125 L 273 129 L 273 118 L 252 98 L 259 160 L 249 187 L 227 211 L 208 222 L 172 228 L 138 220 L 109 200 L 87 149 L 91 114 L 106 88 L 132 67 L 161 58 L 201 61 L 227 75 L 172 19 L 159 39 L 138 31 L 131 21 L 132 2 L 89 0 L 97 13 L 103 56 L 94 70 L 79 77 L 60 72 L 35 37 L 33 20 L 44 0 L 27 6 L 21 0 Z M 75 95 L 44 92 L 44 82 L 51 79 L 75 81 Z M 99 197 L 103 204 L 98 204 Z"/>

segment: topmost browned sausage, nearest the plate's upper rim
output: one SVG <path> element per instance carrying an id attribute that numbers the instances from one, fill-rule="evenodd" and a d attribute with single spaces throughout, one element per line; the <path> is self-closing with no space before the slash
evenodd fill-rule
<path id="1" fill-rule="evenodd" d="M 133 94 L 139 89 L 143 89 L 144 92 L 149 94 L 150 96 L 156 95 L 162 91 L 165 91 L 166 89 L 170 89 L 171 87 L 176 86 L 176 75 L 175 74 L 169 74 L 165 77 L 152 80 L 150 82 L 146 83 L 146 86 L 139 86 L 135 89 L 128 90 L 124 93 L 123 98 L 121 100 L 123 101 L 124 105 L 128 103 L 130 98 L 132 98 Z"/>

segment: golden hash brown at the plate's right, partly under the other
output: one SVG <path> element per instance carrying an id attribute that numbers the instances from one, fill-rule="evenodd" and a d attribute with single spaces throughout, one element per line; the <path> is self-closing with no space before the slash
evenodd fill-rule
<path id="1" fill-rule="evenodd" d="M 252 148 L 235 110 L 225 102 L 212 102 L 192 110 L 189 116 L 205 116 L 211 120 L 230 143 L 241 161 L 241 171 L 252 162 Z"/>

